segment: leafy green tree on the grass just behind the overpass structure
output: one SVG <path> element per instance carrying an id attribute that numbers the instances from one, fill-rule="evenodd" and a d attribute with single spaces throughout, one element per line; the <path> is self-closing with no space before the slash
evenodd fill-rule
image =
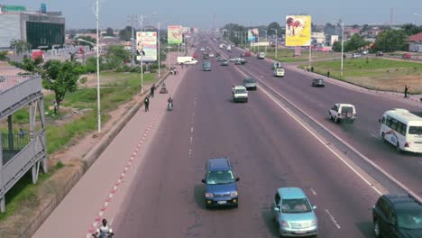
<path id="1" fill-rule="evenodd" d="M 78 78 L 82 74 L 78 62 L 52 59 L 47 61 L 41 71 L 42 86 L 54 92 L 57 110 L 60 111 L 60 103 L 67 92 L 75 92 L 78 89 Z"/>

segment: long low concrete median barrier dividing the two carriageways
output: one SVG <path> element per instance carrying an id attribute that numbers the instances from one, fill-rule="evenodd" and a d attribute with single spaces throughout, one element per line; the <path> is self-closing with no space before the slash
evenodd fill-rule
<path id="1" fill-rule="evenodd" d="M 237 68 L 236 68 L 237 69 Z M 247 76 L 245 73 L 243 73 L 240 69 L 237 69 L 239 72 L 241 72 L 244 76 Z M 249 72 L 249 74 L 252 76 L 253 74 Z M 261 81 L 261 80 L 260 80 Z M 269 87 L 267 84 L 265 84 L 263 81 L 261 81 L 261 84 L 265 85 L 266 87 Z M 270 87 L 272 88 L 272 87 Z M 422 197 L 417 196 L 417 194 L 415 192 L 413 192 L 410 188 L 406 187 L 404 184 L 402 184 L 397 178 L 394 178 L 392 175 L 390 175 L 390 173 L 388 173 L 386 170 L 382 169 L 379 165 L 377 165 L 375 162 L 373 162 L 372 160 L 370 160 L 368 157 L 366 157 L 365 155 L 363 155 L 360 151 L 356 150 L 352 145 L 350 145 L 347 142 L 344 142 L 344 140 L 342 138 L 340 138 L 338 135 L 336 135 L 335 133 L 331 132 L 330 130 L 328 130 L 328 128 L 326 128 L 326 126 L 324 126 L 323 124 L 320 124 L 319 122 L 316 121 L 316 119 L 314 119 L 312 116 L 310 116 L 309 114 L 307 114 L 305 111 L 303 111 L 302 109 L 300 109 L 298 107 L 298 105 L 295 105 L 294 103 L 292 103 L 291 101 L 289 101 L 289 99 L 287 99 L 285 96 L 282 96 L 279 92 L 275 91 L 274 89 L 272 89 L 272 91 L 277 94 L 278 96 L 282 97 L 284 100 L 286 100 L 287 102 L 289 102 L 290 105 L 293 105 L 298 111 L 300 111 L 302 114 L 305 114 L 307 116 L 308 119 L 312 120 L 315 124 L 318 124 L 320 127 L 322 127 L 324 130 L 326 130 L 327 133 L 330 133 L 333 137 L 335 137 L 336 140 L 342 142 L 344 145 L 346 145 L 347 147 L 349 147 L 349 149 L 351 149 L 353 152 L 357 153 L 363 160 L 365 160 L 367 163 L 371 164 L 375 169 L 378 169 L 384 176 L 386 176 L 387 178 L 390 178 L 390 180 L 392 180 L 394 183 L 396 183 L 397 185 L 399 185 L 400 188 L 403 188 L 404 190 L 406 190 L 406 192 L 408 194 L 410 194 L 412 197 L 417 198 L 417 200 L 422 201 Z M 268 94 L 267 94 L 268 95 Z M 274 99 L 273 99 L 274 100 Z M 372 187 L 373 188 L 373 187 Z"/>

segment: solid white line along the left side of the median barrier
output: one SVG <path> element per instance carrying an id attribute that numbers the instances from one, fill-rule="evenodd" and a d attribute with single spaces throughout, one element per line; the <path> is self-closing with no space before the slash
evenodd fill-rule
<path id="1" fill-rule="evenodd" d="M 382 193 L 381 193 L 381 191 L 380 190 L 378 190 L 378 188 L 375 188 L 375 187 L 373 187 L 372 186 L 372 184 L 370 183 L 370 181 L 368 181 L 366 178 L 364 178 L 356 169 L 354 169 L 353 167 L 352 167 L 352 165 L 350 165 L 346 160 L 344 160 L 342 157 L 341 157 L 341 155 L 339 155 L 337 152 L 335 152 L 333 149 L 331 149 L 331 147 L 329 146 L 330 144 L 326 144 L 322 139 L 320 139 L 317 135 L 316 135 L 316 133 L 314 133 L 314 132 L 312 132 L 310 129 L 308 129 L 307 128 L 307 126 L 305 125 L 305 124 L 303 124 L 302 122 L 300 122 L 299 120 L 298 120 L 298 118 L 293 114 L 293 113 L 290 113 L 289 112 L 289 110 L 287 109 L 287 108 L 285 108 L 283 105 L 281 105 L 280 104 L 280 102 L 276 99 L 276 98 L 274 98 L 274 96 L 272 96 L 269 92 L 267 92 L 267 90 L 266 89 L 263 89 L 262 87 L 261 87 L 261 92 L 263 92 L 264 94 L 266 94 L 267 96 L 269 96 L 270 98 L 271 98 L 271 100 L 275 103 L 275 104 L 277 104 L 277 105 L 279 105 L 280 106 L 280 108 L 283 110 L 283 111 L 285 111 L 287 114 L 289 114 L 289 116 L 291 117 L 291 118 L 293 118 L 298 124 L 300 124 L 303 128 L 305 128 L 305 130 L 307 130 L 307 132 L 308 133 L 310 133 L 310 134 L 312 134 L 315 138 L 316 138 L 316 140 L 318 141 L 318 142 L 321 142 L 324 146 L 326 146 L 326 149 L 328 149 L 329 151 L 331 151 L 333 154 L 335 154 L 335 156 L 339 159 L 339 160 L 341 160 L 341 161 L 343 161 L 344 162 L 344 164 L 349 168 L 349 169 L 351 169 L 359 178 L 362 178 L 362 180 L 369 186 L 369 187 L 371 187 L 372 189 L 374 189 L 375 190 L 375 192 L 377 192 L 379 195 L 382 195 Z"/>

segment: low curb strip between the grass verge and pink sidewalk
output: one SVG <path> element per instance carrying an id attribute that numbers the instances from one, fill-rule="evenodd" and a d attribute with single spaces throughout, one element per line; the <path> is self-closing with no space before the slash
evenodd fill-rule
<path id="1" fill-rule="evenodd" d="M 156 82 L 157 88 L 161 86 L 161 84 L 169 77 L 170 72 L 165 73 L 158 81 Z M 59 191 L 55 197 L 50 199 L 47 206 L 41 209 L 41 212 L 38 215 L 35 215 L 35 218 L 32 219 L 30 223 L 27 223 L 27 226 L 23 227 L 23 229 L 18 232 L 18 237 L 32 237 L 32 235 L 40 228 L 41 224 L 49 217 L 49 215 L 54 211 L 54 209 L 60 205 L 60 202 L 63 200 L 66 195 L 68 195 L 69 191 L 78 183 L 79 179 L 82 178 L 89 167 L 99 158 L 99 156 L 105 151 L 107 146 L 115 140 L 115 137 L 118 133 L 120 133 L 125 124 L 127 124 L 132 118 L 133 115 L 141 109 L 143 105 L 143 100 L 146 96 L 149 96 L 149 90 L 145 90 L 142 93 L 141 100 L 136 102 L 126 114 L 123 115 L 122 118 L 118 120 L 118 122 L 113 126 L 113 128 L 105 133 L 103 138 L 99 142 L 96 142 L 96 145 L 87 152 L 87 154 L 83 157 L 82 161 L 86 161 L 86 166 L 83 169 L 78 169 L 78 171 L 69 179 L 68 183 L 61 191 Z"/>

